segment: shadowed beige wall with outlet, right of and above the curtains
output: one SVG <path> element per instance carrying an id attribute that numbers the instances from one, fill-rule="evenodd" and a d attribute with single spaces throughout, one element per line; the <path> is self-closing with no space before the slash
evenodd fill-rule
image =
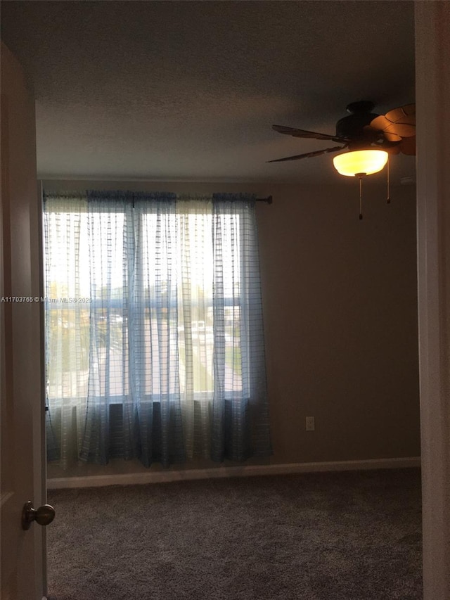
<path id="1" fill-rule="evenodd" d="M 344 178 L 329 188 L 99 181 L 44 188 L 271 194 L 272 205 L 257 205 L 271 463 L 420 455 L 414 186 L 394 187 L 387 205 L 384 178 L 368 178 L 362 221 L 357 182 Z M 316 418 L 314 432 L 305 416 Z M 129 468 L 144 470 L 117 463 L 107 471 Z M 74 474 L 84 472 L 105 473 L 89 466 Z"/>

